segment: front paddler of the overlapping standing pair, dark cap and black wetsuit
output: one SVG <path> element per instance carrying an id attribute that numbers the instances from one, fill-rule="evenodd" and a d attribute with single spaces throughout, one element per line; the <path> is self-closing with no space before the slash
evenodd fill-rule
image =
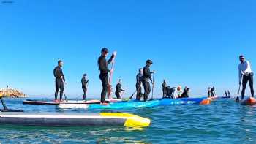
<path id="1" fill-rule="evenodd" d="M 143 68 L 143 87 L 144 87 L 144 102 L 148 100 L 148 96 L 150 94 L 151 88 L 150 88 L 150 83 L 149 80 L 151 81 L 152 85 L 154 85 L 154 82 L 151 78 L 151 74 L 154 72 L 150 71 L 150 67 L 153 64 L 151 60 L 146 61 L 146 66 Z"/>

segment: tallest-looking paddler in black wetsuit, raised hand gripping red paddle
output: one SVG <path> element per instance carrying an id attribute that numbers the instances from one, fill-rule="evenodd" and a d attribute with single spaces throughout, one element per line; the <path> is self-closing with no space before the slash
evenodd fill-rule
<path id="1" fill-rule="evenodd" d="M 108 56 L 108 48 L 102 48 L 101 56 L 98 58 L 98 66 L 99 66 L 99 79 L 102 81 L 102 92 L 101 92 L 101 104 L 105 105 L 105 97 L 108 92 L 108 72 L 113 72 L 113 69 L 108 69 L 108 64 L 111 63 L 113 58 L 116 56 L 116 51 L 113 52 L 110 59 L 107 61 L 106 56 Z"/>

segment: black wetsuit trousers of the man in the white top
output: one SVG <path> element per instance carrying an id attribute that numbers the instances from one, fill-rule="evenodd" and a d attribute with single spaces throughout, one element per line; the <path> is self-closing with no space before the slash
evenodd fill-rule
<path id="1" fill-rule="evenodd" d="M 245 89 L 246 89 L 246 85 L 247 85 L 247 82 L 249 81 L 249 87 L 251 89 L 251 96 L 254 97 L 255 96 L 255 91 L 253 89 L 253 72 L 247 74 L 247 75 L 243 75 L 243 81 L 242 81 L 242 99 L 244 99 L 244 92 L 245 92 Z"/>

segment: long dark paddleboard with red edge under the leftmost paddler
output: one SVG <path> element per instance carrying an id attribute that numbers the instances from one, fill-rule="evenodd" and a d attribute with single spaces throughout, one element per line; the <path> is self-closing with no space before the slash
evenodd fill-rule
<path id="1" fill-rule="evenodd" d="M 88 100 L 88 101 L 74 101 L 69 100 L 67 102 L 47 102 L 47 101 L 37 101 L 37 100 L 24 100 L 23 104 L 27 105 L 59 105 L 59 104 L 99 104 L 99 100 Z"/>

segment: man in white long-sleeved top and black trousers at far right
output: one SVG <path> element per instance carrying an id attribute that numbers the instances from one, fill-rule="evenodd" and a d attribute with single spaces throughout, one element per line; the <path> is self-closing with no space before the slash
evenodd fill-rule
<path id="1" fill-rule="evenodd" d="M 239 59 L 241 62 L 241 64 L 238 65 L 239 85 L 242 85 L 241 99 L 244 99 L 244 92 L 246 89 L 247 82 L 249 82 L 251 96 L 254 97 L 255 91 L 253 89 L 253 72 L 251 69 L 251 64 L 249 63 L 249 61 L 245 60 L 245 57 L 243 55 L 239 56 Z"/>

